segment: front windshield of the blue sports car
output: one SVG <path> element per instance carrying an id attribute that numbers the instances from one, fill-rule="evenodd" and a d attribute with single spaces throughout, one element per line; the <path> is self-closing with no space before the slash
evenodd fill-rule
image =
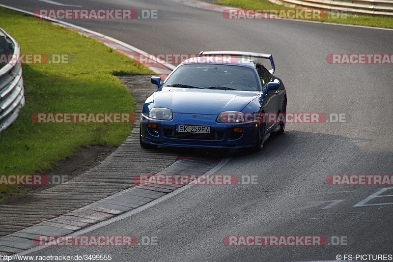
<path id="1" fill-rule="evenodd" d="M 165 87 L 257 91 L 252 68 L 239 65 L 185 64 L 165 81 Z"/>

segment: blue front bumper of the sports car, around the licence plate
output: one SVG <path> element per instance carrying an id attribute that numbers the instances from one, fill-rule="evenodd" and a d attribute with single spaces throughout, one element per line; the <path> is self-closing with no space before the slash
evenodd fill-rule
<path id="1" fill-rule="evenodd" d="M 217 123 L 216 115 L 174 113 L 172 120 L 157 120 L 141 115 L 140 133 L 142 142 L 157 146 L 247 148 L 256 143 L 258 126 L 249 123 Z M 156 128 L 148 124 L 156 124 Z M 176 132 L 176 125 L 210 126 L 210 134 Z M 256 125 L 256 126 L 255 126 Z M 243 132 L 234 132 L 243 128 Z"/>

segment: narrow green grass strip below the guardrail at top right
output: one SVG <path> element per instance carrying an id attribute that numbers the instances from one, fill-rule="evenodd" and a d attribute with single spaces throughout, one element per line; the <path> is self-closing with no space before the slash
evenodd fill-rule
<path id="1" fill-rule="evenodd" d="M 269 0 L 219 0 L 216 4 L 235 6 L 244 9 L 289 9 L 283 5 L 278 5 Z M 298 7 L 307 8 L 307 7 Z M 371 16 L 371 15 L 350 15 L 345 14 L 346 18 L 340 19 L 317 19 L 314 21 L 337 23 L 344 25 L 357 25 L 367 27 L 379 27 L 393 29 L 393 18 L 388 16 Z"/>

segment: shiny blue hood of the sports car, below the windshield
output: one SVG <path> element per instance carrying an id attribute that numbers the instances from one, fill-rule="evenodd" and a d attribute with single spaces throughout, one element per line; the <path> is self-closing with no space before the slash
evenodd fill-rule
<path id="1" fill-rule="evenodd" d="M 154 107 L 173 113 L 218 115 L 223 111 L 241 111 L 259 95 L 256 91 L 212 90 L 163 87 L 154 93 Z"/>

